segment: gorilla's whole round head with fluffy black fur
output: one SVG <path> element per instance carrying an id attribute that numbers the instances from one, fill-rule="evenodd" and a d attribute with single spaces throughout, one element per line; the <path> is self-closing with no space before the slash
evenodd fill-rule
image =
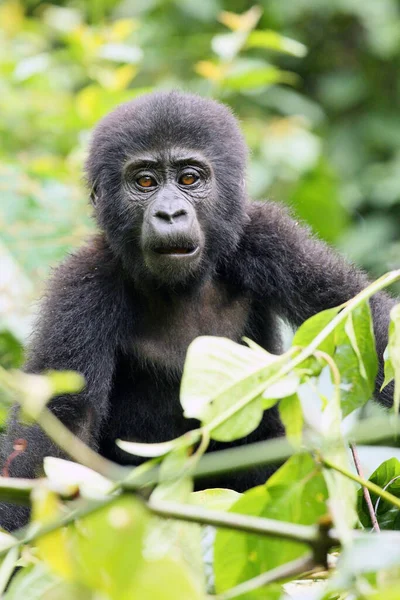
<path id="1" fill-rule="evenodd" d="M 235 249 L 246 155 L 231 112 L 191 94 L 141 96 L 100 122 L 88 181 L 98 223 L 136 280 L 185 284 Z"/>

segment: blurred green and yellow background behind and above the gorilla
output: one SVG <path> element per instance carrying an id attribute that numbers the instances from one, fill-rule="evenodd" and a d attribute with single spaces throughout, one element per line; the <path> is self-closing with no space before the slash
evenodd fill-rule
<path id="1" fill-rule="evenodd" d="M 49 267 L 93 228 L 91 128 L 155 88 L 231 105 L 253 197 L 374 277 L 399 267 L 399 17 L 397 0 L 1 2 L 2 364 L 21 362 Z"/>

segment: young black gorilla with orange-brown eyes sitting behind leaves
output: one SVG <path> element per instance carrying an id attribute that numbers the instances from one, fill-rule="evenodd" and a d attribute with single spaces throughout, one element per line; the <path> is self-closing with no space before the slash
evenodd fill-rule
<path id="1" fill-rule="evenodd" d="M 100 233 L 55 272 L 26 370 L 84 375 L 80 394 L 49 406 L 109 459 L 135 462 L 116 438 L 160 442 L 195 426 L 179 402 L 194 338 L 240 342 L 247 336 L 279 353 L 278 316 L 298 326 L 368 283 L 284 208 L 249 201 L 246 155 L 226 107 L 177 92 L 122 105 L 94 133 L 87 177 Z M 381 363 L 377 390 L 392 304 L 385 294 L 371 301 Z M 384 404 L 392 401 L 390 387 L 377 395 Z M 281 434 L 274 408 L 237 444 Z M 35 477 L 44 456 L 62 455 L 39 427 L 19 424 L 15 408 L 3 461 L 16 438 L 26 439 L 27 448 L 12 461 L 12 476 Z M 268 475 L 258 468 L 204 485 L 242 491 Z M 27 509 L 0 506 L 6 529 L 27 517 Z"/>

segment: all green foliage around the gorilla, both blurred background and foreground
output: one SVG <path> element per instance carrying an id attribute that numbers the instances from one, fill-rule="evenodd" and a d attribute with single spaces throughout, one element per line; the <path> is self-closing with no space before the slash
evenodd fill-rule
<path id="1" fill-rule="evenodd" d="M 397 267 L 399 10 L 395 0 L 270 0 L 263 10 L 249 9 L 244 0 L 4 0 L 2 367 L 21 366 L 31 329 L 29 306 L 49 267 L 93 230 L 81 177 L 92 127 L 117 104 L 153 88 L 183 87 L 229 104 L 251 149 L 249 187 L 255 198 L 286 202 L 318 235 L 373 274 Z M 13 488 L 1 480 L 0 497 L 32 501 L 34 523 L 30 543 L 0 538 L 0 593 L 18 565 L 22 569 L 3 594 L 7 600 L 205 599 L 213 578 L 206 586 L 200 526 L 151 514 L 155 506 L 166 510 L 172 503 L 178 513 L 179 507 L 194 511 L 191 520 L 199 523 L 208 522 L 206 514 L 233 518 L 211 544 L 218 592 L 232 593 L 232 586 L 315 550 L 301 537 L 237 531 L 235 515 L 258 516 L 264 524 L 276 519 L 283 528 L 309 525 L 313 535 L 323 517 L 328 528 L 334 524 L 335 543 L 344 548 L 336 576 L 324 586 L 327 597 L 397 598 L 399 538 L 393 532 L 355 535 L 355 510 L 367 529 L 371 517 L 362 490 L 351 481 L 346 452 L 355 409 L 371 397 L 377 369 L 367 299 L 384 285 L 311 318 L 280 357 L 250 341 L 244 347 L 218 338 L 196 340 L 187 356 L 181 402 L 200 427 L 162 444 L 119 441 L 124 450 L 152 458 L 126 473 L 128 492 L 118 478 L 88 468 L 93 465 L 54 458 L 45 460 L 46 477 L 31 499 L 24 482 Z M 396 411 L 398 315 L 396 306 L 385 354 L 385 385 L 394 379 Z M 83 384 L 76 374 L 27 376 L 2 367 L 3 421 L 15 399 L 31 419 L 40 420 L 53 395 L 73 393 Z M 264 486 L 244 495 L 192 493 L 209 438 L 229 442 L 248 435 L 274 405 L 294 456 Z M 260 461 L 257 449 L 252 452 L 254 462 Z M 389 492 L 389 499 L 380 497 L 379 488 L 371 497 L 380 527 L 398 530 L 400 467 L 396 450 L 387 452 L 370 481 Z M 160 463 L 161 480 L 153 489 L 149 474 Z M 152 483 L 139 499 L 132 490 L 145 475 Z M 65 518 L 69 524 L 61 526 Z M 41 525 L 50 532 L 35 537 Z M 238 596 L 233 594 L 229 597 Z M 281 586 L 256 586 L 239 595 L 275 599 Z"/>

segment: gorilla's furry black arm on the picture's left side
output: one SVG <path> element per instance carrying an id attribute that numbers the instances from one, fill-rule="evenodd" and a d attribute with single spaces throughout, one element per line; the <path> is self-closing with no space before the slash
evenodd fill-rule
<path id="1" fill-rule="evenodd" d="M 25 366 L 29 373 L 72 369 L 85 377 L 81 393 L 58 396 L 49 408 L 93 448 L 107 416 L 122 310 L 112 261 L 105 248 L 93 243 L 57 269 L 41 307 Z M 14 440 L 25 439 L 26 450 L 11 462 L 8 471 L 13 477 L 32 478 L 40 473 L 44 456 L 62 453 L 37 425 L 19 423 L 18 413 L 18 407 L 11 411 L 1 449 L 2 462 L 4 465 L 12 453 Z"/>

